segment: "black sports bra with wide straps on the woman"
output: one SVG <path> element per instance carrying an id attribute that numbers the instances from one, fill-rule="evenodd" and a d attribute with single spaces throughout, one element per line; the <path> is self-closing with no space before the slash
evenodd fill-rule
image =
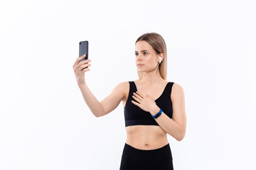
<path id="1" fill-rule="evenodd" d="M 155 100 L 156 105 L 159 106 L 169 118 L 172 118 L 173 113 L 171 103 L 171 87 L 173 84 L 174 82 L 168 82 L 161 96 Z M 149 112 L 142 110 L 139 106 L 132 103 L 132 100 L 135 101 L 134 98 L 132 98 L 132 93 L 136 93 L 136 91 L 137 87 L 134 81 L 129 81 L 129 96 L 124 106 L 125 127 L 131 125 L 158 125 Z"/>

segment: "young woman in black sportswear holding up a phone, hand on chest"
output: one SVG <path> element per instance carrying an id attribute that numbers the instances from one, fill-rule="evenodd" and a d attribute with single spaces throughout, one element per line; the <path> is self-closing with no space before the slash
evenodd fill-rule
<path id="1" fill-rule="evenodd" d="M 124 106 L 127 141 L 120 170 L 174 169 L 167 133 L 178 141 L 185 136 L 185 97 L 181 85 L 166 81 L 164 38 L 157 33 L 146 33 L 137 39 L 135 62 L 139 79 L 118 84 L 101 102 L 85 83 L 85 72 L 90 70 L 91 60 L 79 63 L 84 57 L 78 57 L 73 69 L 92 113 L 96 117 L 107 115 L 120 101 Z M 85 67 L 88 68 L 83 69 Z"/>

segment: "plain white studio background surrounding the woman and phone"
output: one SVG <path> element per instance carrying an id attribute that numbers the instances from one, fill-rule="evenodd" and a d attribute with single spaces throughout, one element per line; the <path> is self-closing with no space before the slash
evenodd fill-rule
<path id="1" fill-rule="evenodd" d="M 163 36 L 167 81 L 183 87 L 186 136 L 168 135 L 174 169 L 256 169 L 255 1 L 1 1 L 0 169 L 119 169 L 122 103 L 96 118 L 73 64 L 89 41 L 85 80 L 98 101 L 138 79 L 134 43 Z M 157 163 L 156 163 L 157 164 Z"/>

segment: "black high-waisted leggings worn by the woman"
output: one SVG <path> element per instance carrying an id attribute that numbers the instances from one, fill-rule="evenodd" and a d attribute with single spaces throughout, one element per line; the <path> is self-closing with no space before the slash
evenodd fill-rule
<path id="1" fill-rule="evenodd" d="M 125 143 L 120 170 L 174 169 L 169 143 L 159 149 L 142 150 Z"/>

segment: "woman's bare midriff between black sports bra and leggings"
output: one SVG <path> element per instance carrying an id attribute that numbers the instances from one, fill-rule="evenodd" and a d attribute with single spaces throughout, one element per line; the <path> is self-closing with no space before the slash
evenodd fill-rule
<path id="1" fill-rule="evenodd" d="M 156 125 L 132 125 L 126 130 L 126 143 L 136 149 L 159 149 L 169 143 L 166 132 Z"/>

